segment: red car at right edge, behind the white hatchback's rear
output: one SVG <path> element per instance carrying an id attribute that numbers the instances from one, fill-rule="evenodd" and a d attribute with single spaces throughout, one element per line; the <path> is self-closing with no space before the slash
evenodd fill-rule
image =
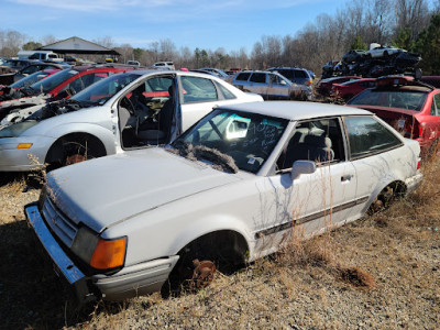
<path id="1" fill-rule="evenodd" d="M 420 143 L 421 154 L 430 155 L 440 139 L 440 89 L 413 77 L 387 76 L 376 87 L 352 98 L 350 107 L 370 110 L 405 138 Z"/>

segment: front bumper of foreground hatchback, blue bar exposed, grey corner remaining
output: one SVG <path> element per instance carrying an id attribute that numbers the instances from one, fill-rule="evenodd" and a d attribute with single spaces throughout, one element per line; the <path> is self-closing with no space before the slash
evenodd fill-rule
<path id="1" fill-rule="evenodd" d="M 26 206 L 24 211 L 29 223 L 59 271 L 57 273 L 74 287 L 80 302 L 99 297 L 106 300 L 122 300 L 160 290 L 179 258 L 178 255 L 172 255 L 127 266 L 112 275 L 86 276 L 54 239 L 36 204 Z"/>

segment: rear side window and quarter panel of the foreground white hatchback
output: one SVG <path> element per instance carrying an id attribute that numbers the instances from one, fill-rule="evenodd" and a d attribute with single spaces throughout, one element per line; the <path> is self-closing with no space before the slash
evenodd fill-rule
<path id="1" fill-rule="evenodd" d="M 343 121 L 349 156 L 358 177 L 358 204 L 353 212 L 359 218 L 393 179 L 393 169 L 400 168 L 402 173 L 410 173 L 410 164 L 402 153 L 403 142 L 374 117 L 345 117 Z"/>

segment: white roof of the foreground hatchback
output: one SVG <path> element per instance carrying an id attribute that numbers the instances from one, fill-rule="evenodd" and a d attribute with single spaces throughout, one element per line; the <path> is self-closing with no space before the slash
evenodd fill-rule
<path id="1" fill-rule="evenodd" d="M 334 116 L 372 116 L 373 113 L 362 109 L 346 106 L 336 106 L 317 102 L 298 101 L 264 101 L 248 102 L 231 106 L 220 106 L 216 109 L 255 112 L 271 117 L 285 118 L 292 121 L 310 118 L 334 117 Z"/>

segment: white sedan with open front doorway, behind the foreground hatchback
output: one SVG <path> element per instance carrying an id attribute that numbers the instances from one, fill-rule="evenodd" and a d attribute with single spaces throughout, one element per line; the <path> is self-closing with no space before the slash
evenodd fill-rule
<path id="1" fill-rule="evenodd" d="M 113 75 L 69 100 L 9 113 L 1 121 L 0 172 L 57 167 L 168 143 L 213 107 L 250 101 L 263 99 L 213 76 L 162 70 Z"/>

